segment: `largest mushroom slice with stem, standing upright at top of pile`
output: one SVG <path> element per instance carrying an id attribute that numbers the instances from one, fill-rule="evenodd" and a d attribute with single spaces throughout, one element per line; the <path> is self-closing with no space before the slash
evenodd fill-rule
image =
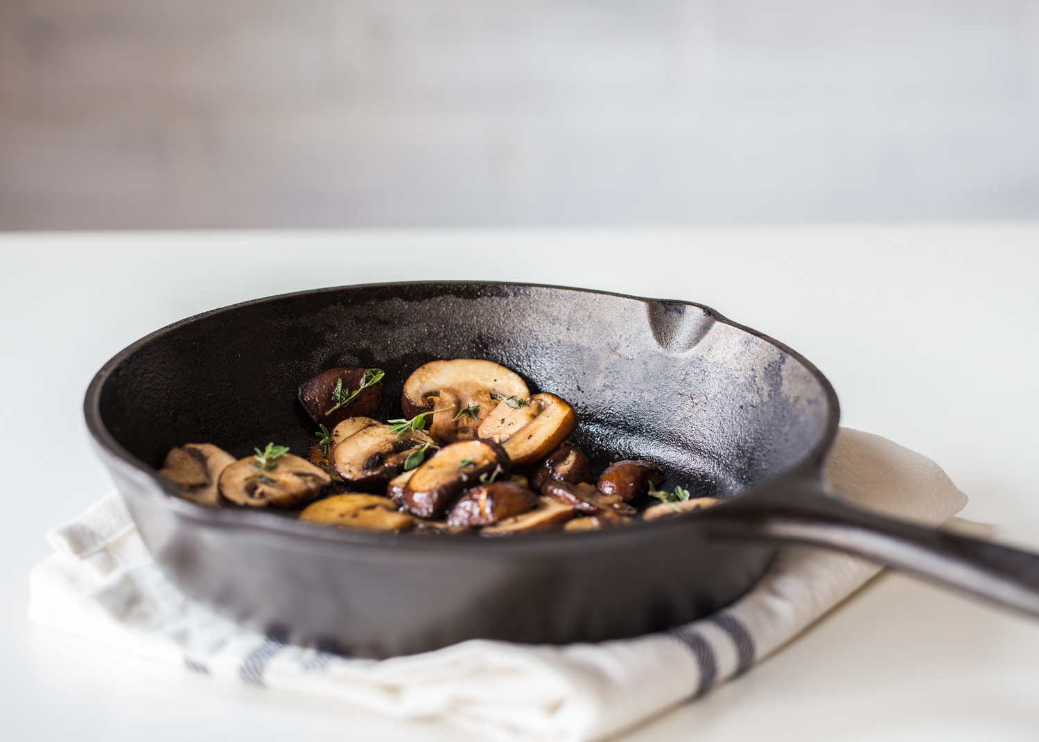
<path id="1" fill-rule="evenodd" d="M 477 438 L 477 428 L 498 404 L 497 399 L 508 396 L 526 399 L 529 395 L 524 380 L 504 366 L 490 361 L 455 359 L 433 361 L 417 368 L 404 381 L 400 402 L 405 418 L 442 410 L 432 416 L 429 434 L 437 443 L 446 444 Z M 464 409 L 476 418 L 462 415 Z"/>

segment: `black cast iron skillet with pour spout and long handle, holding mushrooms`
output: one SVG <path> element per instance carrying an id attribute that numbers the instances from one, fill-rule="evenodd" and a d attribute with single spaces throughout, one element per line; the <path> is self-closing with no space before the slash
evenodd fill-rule
<path id="1" fill-rule="evenodd" d="M 166 451 L 268 441 L 302 454 L 301 381 L 385 370 L 382 419 L 435 359 L 488 359 L 577 409 L 593 459 L 647 458 L 702 513 L 509 538 L 377 534 L 271 511 L 208 509 L 156 475 Z M 790 348 L 699 304 L 521 284 L 352 286 L 249 301 L 131 345 L 94 378 L 87 426 L 160 566 L 260 631 L 390 657 L 483 637 L 601 641 L 710 613 L 777 541 L 845 551 L 1039 615 L 1039 557 L 891 521 L 829 497 L 836 395 Z"/>

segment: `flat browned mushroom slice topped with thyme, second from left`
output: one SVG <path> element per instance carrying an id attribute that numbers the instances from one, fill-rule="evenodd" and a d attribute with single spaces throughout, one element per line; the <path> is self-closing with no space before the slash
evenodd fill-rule
<path id="1" fill-rule="evenodd" d="M 331 478 L 299 456 L 287 453 L 260 471 L 257 460 L 240 458 L 220 475 L 220 494 L 238 505 L 292 507 L 310 502 L 331 484 Z"/>

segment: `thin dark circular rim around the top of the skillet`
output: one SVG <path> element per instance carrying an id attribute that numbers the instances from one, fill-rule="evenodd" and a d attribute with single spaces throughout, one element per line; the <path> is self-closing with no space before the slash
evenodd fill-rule
<path id="1" fill-rule="evenodd" d="M 691 523 L 695 523 L 696 515 L 694 513 L 681 513 L 675 518 L 659 519 L 649 522 L 640 522 L 638 524 L 633 524 L 634 528 L 631 526 L 625 526 L 623 528 L 611 528 L 598 531 L 584 531 L 584 532 L 570 532 L 565 533 L 562 531 L 549 531 L 541 533 L 525 533 L 513 535 L 509 537 L 500 538 L 485 538 L 478 536 L 452 536 L 452 537 L 441 537 L 436 535 L 425 535 L 417 537 L 416 534 L 411 533 L 378 533 L 361 531 L 354 529 L 346 528 L 336 528 L 330 526 L 320 526 L 317 524 L 301 523 L 295 519 L 286 518 L 279 515 L 275 512 L 268 511 L 268 508 L 256 508 L 252 510 L 244 510 L 238 508 L 210 508 L 196 503 L 185 500 L 176 494 L 174 494 L 174 485 L 171 483 L 165 482 L 158 474 L 158 470 L 154 469 L 146 462 L 134 456 L 126 448 L 124 448 L 114 436 L 108 431 L 101 419 L 100 410 L 100 400 L 101 400 L 101 389 L 105 381 L 111 376 L 112 372 L 124 363 L 129 356 L 133 355 L 137 350 L 144 347 L 149 343 L 157 340 L 158 338 L 172 333 L 181 327 L 188 324 L 196 322 L 203 319 L 209 319 L 212 317 L 217 317 L 223 313 L 229 313 L 244 309 L 254 304 L 260 304 L 264 302 L 273 301 L 275 299 L 303 296 L 303 295 L 317 295 L 323 293 L 334 293 L 343 291 L 345 289 L 361 289 L 361 288 L 394 288 L 394 287 L 414 287 L 414 286 L 444 286 L 444 287 L 479 287 L 479 286 L 514 286 L 514 287 L 526 287 L 526 288 L 539 288 L 539 289 L 553 289 L 561 291 L 572 291 L 586 294 L 595 294 L 600 296 L 616 296 L 619 298 L 634 299 L 636 301 L 642 302 L 643 304 L 650 303 L 669 303 L 669 304 L 685 304 L 688 307 L 696 307 L 697 309 L 705 312 L 714 321 L 721 322 L 722 324 L 727 324 L 729 326 L 736 327 L 744 333 L 747 333 L 753 337 L 756 337 L 765 342 L 779 348 L 783 352 L 793 356 L 798 363 L 802 364 L 805 369 L 816 378 L 816 380 L 822 386 L 823 391 L 826 396 L 827 401 L 827 420 L 823 433 L 820 435 L 816 445 L 809 449 L 809 451 L 795 463 L 793 463 L 788 469 L 779 472 L 773 477 L 765 480 L 761 484 L 751 487 L 743 493 L 736 496 L 736 500 L 743 500 L 746 497 L 764 492 L 770 488 L 774 482 L 780 479 L 788 479 L 792 476 L 800 476 L 806 479 L 822 479 L 822 467 L 823 461 L 829 453 L 830 448 L 833 446 L 833 442 L 836 438 L 837 427 L 841 420 L 841 407 L 840 401 L 837 399 L 836 392 L 833 386 L 830 383 L 829 379 L 806 357 L 801 353 L 797 352 L 790 346 L 781 343 L 774 338 L 765 335 L 764 333 L 749 327 L 739 322 L 734 322 L 724 315 L 722 315 L 717 310 L 708 307 L 707 304 L 701 304 L 696 301 L 687 301 L 684 299 L 664 299 L 664 298 L 651 298 L 645 296 L 635 296 L 632 294 L 623 294 L 615 291 L 600 291 L 596 289 L 584 289 L 574 286 L 559 286 L 554 284 L 528 284 L 523 282 L 503 282 L 503 281 L 398 281 L 398 282 L 385 282 L 377 284 L 347 284 L 345 286 L 332 286 L 323 287 L 318 289 L 304 289 L 302 291 L 293 291 L 284 294 L 273 294 L 270 296 L 264 296 L 256 299 L 249 299 L 247 301 L 240 301 L 238 303 L 229 304 L 227 307 L 219 307 L 217 309 L 208 310 L 199 314 L 191 315 L 185 317 L 184 319 L 178 320 L 163 327 L 160 327 L 144 337 L 134 341 L 130 345 L 123 348 L 109 359 L 94 375 L 90 379 L 90 383 L 87 386 L 86 394 L 83 398 L 83 416 L 85 418 L 86 427 L 89 431 L 91 438 L 94 439 L 95 445 L 99 446 L 107 454 L 111 455 L 114 459 L 117 459 L 124 466 L 129 466 L 131 469 L 145 475 L 149 479 L 155 482 L 162 493 L 165 495 L 165 500 L 163 505 L 167 507 L 171 513 L 178 518 L 193 521 L 198 525 L 205 525 L 213 528 L 228 528 L 232 530 L 245 529 L 245 530 L 256 530 L 260 532 L 274 533 L 283 537 L 289 537 L 295 539 L 296 537 L 303 537 L 309 541 L 314 541 L 317 544 L 348 544 L 357 547 L 392 547 L 394 549 L 406 549 L 406 550 L 427 550 L 427 549 L 497 549 L 504 551 L 526 551 L 527 549 L 540 550 L 543 547 L 541 545 L 551 545 L 557 547 L 566 548 L 571 546 L 575 548 L 585 549 L 590 542 L 597 541 L 598 545 L 603 547 L 609 547 L 613 541 L 616 540 L 628 540 L 629 538 L 636 536 L 638 534 L 645 534 L 648 537 L 652 537 L 654 533 L 659 533 L 667 529 L 674 528 L 686 528 Z M 717 509 L 724 509 L 725 502 L 717 506 Z M 716 509 L 716 508 L 713 508 Z"/>

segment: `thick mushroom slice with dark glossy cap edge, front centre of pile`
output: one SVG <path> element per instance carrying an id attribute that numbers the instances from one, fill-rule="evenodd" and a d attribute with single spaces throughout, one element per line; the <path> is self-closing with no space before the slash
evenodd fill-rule
<path id="1" fill-rule="evenodd" d="M 443 518 L 462 489 L 480 477 L 508 479 L 509 457 L 492 441 L 459 441 L 420 466 L 404 486 L 404 507 L 419 518 Z"/>

